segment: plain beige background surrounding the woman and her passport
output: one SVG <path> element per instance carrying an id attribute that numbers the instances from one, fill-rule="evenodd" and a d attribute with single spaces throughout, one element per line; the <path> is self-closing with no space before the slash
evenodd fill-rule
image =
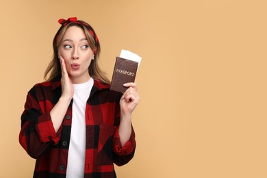
<path id="1" fill-rule="evenodd" d="M 142 56 L 136 155 L 118 177 L 267 177 L 267 2 L 1 1 L 0 177 L 31 177 L 18 144 L 27 91 L 43 80 L 58 18 L 97 31 L 112 75 L 121 49 Z"/>

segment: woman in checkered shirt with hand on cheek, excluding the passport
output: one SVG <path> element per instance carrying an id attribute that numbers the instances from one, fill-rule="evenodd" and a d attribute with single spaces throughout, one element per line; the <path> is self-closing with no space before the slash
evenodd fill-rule
<path id="1" fill-rule="evenodd" d="M 77 18 L 59 23 L 47 81 L 27 94 L 19 141 L 36 159 L 34 177 L 116 177 L 113 163 L 127 164 L 136 148 L 137 86 L 110 90 L 94 29 Z"/>

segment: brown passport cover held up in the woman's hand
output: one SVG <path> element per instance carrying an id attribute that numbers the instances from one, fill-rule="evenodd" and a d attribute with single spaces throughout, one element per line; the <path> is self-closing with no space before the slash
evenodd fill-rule
<path id="1" fill-rule="evenodd" d="M 125 92 L 125 90 L 127 90 L 127 87 L 123 86 L 123 84 L 134 82 L 134 80 L 136 79 L 137 68 L 138 62 L 117 57 L 112 75 L 110 90 Z"/>

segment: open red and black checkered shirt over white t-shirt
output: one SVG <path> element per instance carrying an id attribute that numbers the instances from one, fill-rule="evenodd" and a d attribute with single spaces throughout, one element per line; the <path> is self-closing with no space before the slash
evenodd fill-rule
<path id="1" fill-rule="evenodd" d="M 61 97 L 60 81 L 36 84 L 27 94 L 21 116 L 19 141 L 36 159 L 34 177 L 66 177 L 68 147 L 71 136 L 72 101 L 58 132 L 50 111 Z M 121 94 L 110 85 L 94 79 L 86 104 L 86 159 L 84 177 L 116 177 L 114 164 L 127 164 L 136 149 L 135 133 L 121 147 L 118 135 Z"/>

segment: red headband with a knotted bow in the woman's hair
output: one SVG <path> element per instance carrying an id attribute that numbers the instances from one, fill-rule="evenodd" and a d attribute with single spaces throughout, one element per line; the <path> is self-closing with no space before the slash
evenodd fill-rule
<path id="1" fill-rule="evenodd" d="M 83 21 L 77 21 L 77 17 L 70 17 L 67 20 L 65 20 L 64 18 L 60 18 L 60 20 L 58 20 L 58 23 L 60 23 L 62 26 L 66 26 L 68 25 L 68 23 L 78 23 L 86 27 L 90 31 L 92 37 L 94 38 L 94 42 L 96 43 L 95 44 L 96 49 L 94 50 L 94 54 L 97 54 L 97 46 L 98 46 L 97 44 L 99 44 L 99 40 L 97 38 L 97 34 L 94 33 L 94 30 L 88 23 L 85 23 Z M 58 36 L 56 40 L 58 40 Z"/>

